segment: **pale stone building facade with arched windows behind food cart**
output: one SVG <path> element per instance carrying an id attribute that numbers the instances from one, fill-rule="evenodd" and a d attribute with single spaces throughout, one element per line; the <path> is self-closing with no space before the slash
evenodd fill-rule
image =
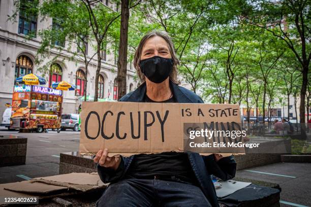
<path id="1" fill-rule="evenodd" d="M 106 2 L 109 4 L 108 1 Z M 87 80 L 84 77 L 85 67 L 81 60 L 69 60 L 69 56 L 59 55 L 56 50 L 51 51 L 51 56 L 42 63 L 46 64 L 53 57 L 57 56 L 57 54 L 59 55 L 56 61 L 49 65 L 51 68 L 50 72 L 42 74 L 38 71 L 39 65 L 35 63 L 36 53 L 40 47 L 41 40 L 38 36 L 29 40 L 26 35 L 29 30 L 39 31 L 50 27 L 52 25 L 52 19 L 43 20 L 40 19 L 40 16 L 34 19 L 25 19 L 21 12 L 19 12 L 15 22 L 9 21 L 8 15 L 12 15 L 14 11 L 16 11 L 16 8 L 13 0 L 0 1 L 0 115 L 3 114 L 6 108 L 5 103 L 11 103 L 12 101 L 12 92 L 16 77 L 27 73 L 45 77 L 47 81 L 45 87 L 49 87 L 55 81 L 68 81 L 78 85 L 76 92 L 64 91 L 63 103 L 63 113 L 77 113 L 81 104 L 81 96 L 84 95 L 82 94 L 84 81 L 87 81 L 87 95 L 92 97 L 95 94 L 97 56 L 91 60 L 88 66 Z M 90 44 L 88 43 L 88 45 Z M 67 43 L 65 42 L 64 50 L 67 48 Z M 71 50 L 77 50 L 77 48 L 71 47 Z M 88 47 L 88 54 L 94 54 L 94 52 L 93 48 Z M 99 78 L 100 98 L 117 99 L 117 86 L 115 82 L 117 61 L 114 54 L 103 53 L 103 55 L 105 58 L 101 63 Z M 135 77 L 135 69 L 129 63 L 127 92 L 137 88 L 138 82 L 135 81 Z"/>

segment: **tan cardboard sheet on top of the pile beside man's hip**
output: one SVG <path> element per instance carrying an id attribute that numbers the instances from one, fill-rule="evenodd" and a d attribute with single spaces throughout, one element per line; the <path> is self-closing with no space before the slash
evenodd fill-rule
<path id="1" fill-rule="evenodd" d="M 63 174 L 57 176 L 49 176 L 42 178 L 34 178 L 33 181 L 42 182 L 57 186 L 64 186 L 67 188 L 79 190 L 79 191 L 88 191 L 96 188 L 101 188 L 107 186 L 104 184 L 97 172 L 95 173 L 76 173 Z"/>

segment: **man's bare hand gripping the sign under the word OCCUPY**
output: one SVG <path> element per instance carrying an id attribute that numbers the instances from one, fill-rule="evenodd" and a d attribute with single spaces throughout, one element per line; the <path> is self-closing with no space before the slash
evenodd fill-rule
<path id="1" fill-rule="evenodd" d="M 94 162 L 99 163 L 103 167 L 110 167 L 116 170 L 121 162 L 120 155 L 108 156 L 108 149 L 100 150 L 94 157 Z"/>

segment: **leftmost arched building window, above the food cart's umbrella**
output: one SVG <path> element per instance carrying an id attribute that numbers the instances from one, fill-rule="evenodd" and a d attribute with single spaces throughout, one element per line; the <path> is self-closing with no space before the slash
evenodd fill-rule
<path id="1" fill-rule="evenodd" d="M 16 78 L 33 73 L 33 69 L 34 64 L 29 57 L 26 55 L 20 55 L 17 57 L 15 63 L 14 85 L 16 84 Z"/>

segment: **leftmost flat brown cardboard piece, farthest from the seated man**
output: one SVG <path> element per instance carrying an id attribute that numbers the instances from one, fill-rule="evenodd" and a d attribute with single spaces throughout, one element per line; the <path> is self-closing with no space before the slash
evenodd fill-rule
<path id="1" fill-rule="evenodd" d="M 34 181 L 22 181 L 16 183 L 7 183 L 6 190 L 25 193 L 50 193 L 53 191 L 66 190 L 66 187 L 38 183 Z"/>

